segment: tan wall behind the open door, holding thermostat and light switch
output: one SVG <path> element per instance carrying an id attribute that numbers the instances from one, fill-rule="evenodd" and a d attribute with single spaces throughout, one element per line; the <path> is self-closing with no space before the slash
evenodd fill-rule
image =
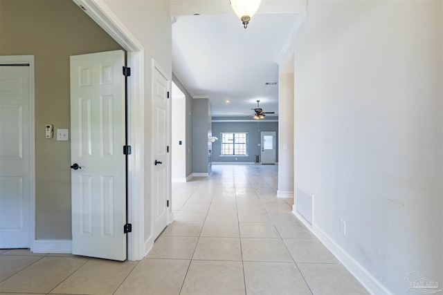
<path id="1" fill-rule="evenodd" d="M 0 0 L 0 55 L 35 55 L 37 239 L 71 239 L 70 142 L 44 135 L 70 129 L 69 57 L 117 49 L 71 0 Z"/>

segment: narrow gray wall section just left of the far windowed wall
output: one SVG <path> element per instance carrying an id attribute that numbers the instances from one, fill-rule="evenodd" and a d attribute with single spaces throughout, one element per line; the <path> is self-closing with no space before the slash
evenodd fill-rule
<path id="1" fill-rule="evenodd" d="M 208 173 L 208 135 L 210 103 L 207 98 L 192 100 L 192 170 Z"/>

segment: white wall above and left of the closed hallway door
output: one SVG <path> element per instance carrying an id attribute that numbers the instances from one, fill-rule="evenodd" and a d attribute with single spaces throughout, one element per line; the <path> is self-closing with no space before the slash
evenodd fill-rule
<path id="1" fill-rule="evenodd" d="M 144 240 L 145 252 L 154 244 L 152 217 L 152 59 L 172 77 L 172 26 L 169 1 L 105 0 L 106 5 L 144 48 Z M 168 198 L 170 199 L 170 198 Z M 146 254 L 146 253 L 145 253 Z"/>

